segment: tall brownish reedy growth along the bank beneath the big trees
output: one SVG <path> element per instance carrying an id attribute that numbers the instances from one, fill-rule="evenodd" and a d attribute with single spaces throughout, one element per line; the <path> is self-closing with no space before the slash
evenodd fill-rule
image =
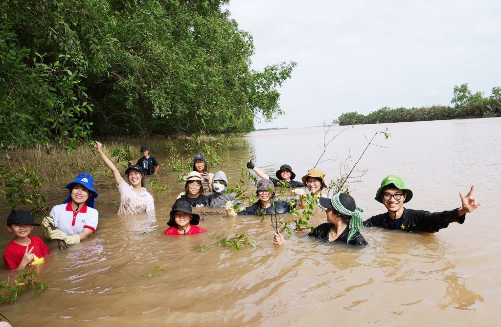
<path id="1" fill-rule="evenodd" d="M 112 150 L 123 149 L 123 152 L 132 152 L 132 162 L 141 157 L 139 149 L 141 145 L 147 145 L 152 155 L 161 154 L 167 158 L 165 162 L 159 162 L 171 171 L 187 172 L 191 170 L 193 156 L 201 153 L 205 156 L 210 169 L 219 167 L 221 156 L 228 153 L 229 148 L 241 146 L 249 148 L 238 134 L 221 134 L 210 136 L 191 136 L 179 138 L 167 138 L 164 136 L 148 137 L 96 137 L 103 143 L 106 155 L 113 158 Z M 132 148 L 132 151 L 128 151 Z M 114 158 L 115 161 L 116 158 Z M 92 141 L 81 143 L 73 154 L 68 154 L 62 147 L 55 145 L 50 150 L 41 146 L 34 148 L 18 148 L 11 150 L 7 155 L 0 157 L 0 165 L 17 168 L 35 166 L 38 176 L 44 180 L 60 177 L 75 176 L 81 172 L 95 174 L 104 168 L 104 163 L 96 156 Z M 117 168 L 125 169 L 127 163 L 118 160 Z M 165 169 L 165 168 L 164 168 Z"/>

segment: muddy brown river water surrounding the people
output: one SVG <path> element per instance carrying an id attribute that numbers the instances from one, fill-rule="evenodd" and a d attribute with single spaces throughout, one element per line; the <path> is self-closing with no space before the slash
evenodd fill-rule
<path id="1" fill-rule="evenodd" d="M 0 313 L 15 326 L 499 324 L 501 237 L 495 219 L 501 118 L 349 127 L 330 143 L 322 158 L 327 161 L 317 168 L 328 180 L 337 178 L 340 160 L 351 153 L 356 161 L 367 139 L 385 128 L 391 137 L 375 138 L 358 164 L 367 173 L 349 186 L 365 209 L 362 219 L 385 211 L 374 196 L 382 178 L 396 174 L 414 193 L 405 205 L 412 209 L 458 207 L 458 192 L 475 184 L 473 195 L 482 205 L 464 224 L 452 223 L 435 234 L 364 228 L 370 244 L 365 248 L 317 243 L 300 232 L 277 247 L 268 219 L 209 214 L 200 222 L 206 233 L 172 237 L 163 231 L 182 189 L 176 173 L 160 175 L 171 190 L 153 192 L 155 214 L 134 216 L 116 214 L 112 202 L 118 191 L 111 176 L 101 173 L 95 176 L 102 201 L 96 234 L 67 250 L 47 242 L 52 254 L 40 274 L 51 288 L 23 295 L 1 306 Z M 297 180 L 319 159 L 323 137 L 323 127 L 245 136 L 256 166 L 274 175 L 281 164 L 290 164 Z M 240 179 L 247 151 L 231 149 L 223 158 L 220 168 L 232 181 Z M 165 162 L 161 153 L 155 156 Z M 67 182 L 47 189 L 51 205 L 66 198 Z M 0 214 L 5 226 L 8 209 L 3 206 Z M 319 212 L 311 224 L 324 221 Z M 257 247 L 215 246 L 217 237 L 241 233 L 252 236 Z M 33 234 L 43 237 L 41 227 Z M 2 229 L 0 235 L 3 249 L 12 234 Z M 197 245 L 210 247 L 200 252 Z M 159 265 L 165 271 L 155 270 Z M 2 280 L 7 274 L 0 269 Z"/>

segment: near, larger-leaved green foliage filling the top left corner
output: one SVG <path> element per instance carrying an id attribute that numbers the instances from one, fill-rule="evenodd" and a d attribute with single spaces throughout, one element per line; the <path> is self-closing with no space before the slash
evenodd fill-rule
<path id="1" fill-rule="evenodd" d="M 72 152 L 90 133 L 84 79 L 103 74 L 113 44 L 104 1 L 0 2 L 0 150 L 59 143 Z"/>

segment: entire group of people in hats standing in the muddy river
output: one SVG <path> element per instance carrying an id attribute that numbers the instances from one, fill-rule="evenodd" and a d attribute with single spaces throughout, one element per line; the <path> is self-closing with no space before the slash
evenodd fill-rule
<path id="1" fill-rule="evenodd" d="M 144 187 L 145 175 L 156 174 L 158 162 L 149 156 L 146 146 L 141 147 L 143 155 L 136 165 L 129 161 L 125 170 L 125 180 L 113 162 L 104 154 L 102 144 L 95 141 L 97 153 L 113 173 L 116 186 L 120 193 L 118 214 L 131 215 L 155 210 L 152 195 Z M 459 192 L 461 207 L 442 212 L 429 212 L 404 208 L 403 204 L 412 198 L 412 191 L 405 187 L 402 178 L 389 175 L 383 179 L 376 191 L 375 200 L 382 203 L 386 212 L 372 216 L 362 222 L 362 208 L 357 206 L 355 199 L 346 193 L 339 192 L 332 197 L 326 197 L 327 189 L 325 174 L 319 169 L 311 169 L 295 181 L 296 174 L 289 165 L 282 165 L 276 172 L 276 178 L 270 177 L 252 160 L 247 163 L 261 177 L 257 184 L 257 201 L 241 210 L 236 209 L 241 203 L 234 193 L 227 193 L 228 178 L 223 171 L 212 174 L 208 172 L 205 158 L 197 154 L 193 158 L 192 171 L 186 176 L 184 191 L 179 194 L 172 210 L 164 234 L 190 235 L 205 232 L 198 226 L 200 216 L 194 213 L 192 207 L 224 208 L 228 217 L 236 215 L 284 214 L 292 208 L 301 210 L 308 204 L 313 204 L 325 210 L 327 222 L 320 224 L 309 233 L 310 236 L 324 242 L 345 243 L 355 246 L 368 244 L 361 234 L 363 226 L 377 226 L 386 229 L 398 229 L 408 232 L 436 232 L 446 228 L 451 222 L 462 224 L 466 213 L 475 210 L 480 203 L 472 196 L 474 186 L 463 196 Z M 275 200 L 276 186 L 294 188 L 298 196 L 296 203 L 285 200 Z M 98 225 L 98 211 L 94 199 L 98 193 L 94 190 L 94 179 L 90 174 L 81 173 L 74 181 L 65 186 L 69 192 L 63 204 L 52 208 L 50 216 L 42 220 L 44 235 L 48 239 L 64 240 L 68 245 L 77 244 L 92 235 Z M 208 192 L 208 195 L 204 193 Z M 15 236 L 4 252 L 4 261 L 8 269 L 24 269 L 28 264 L 43 262 L 50 251 L 44 241 L 37 236 L 30 236 L 35 219 L 28 211 L 13 210 L 7 220 L 8 230 Z M 57 229 L 52 230 L 51 225 Z M 285 238 L 281 233 L 275 233 L 273 243 L 281 245 Z"/>

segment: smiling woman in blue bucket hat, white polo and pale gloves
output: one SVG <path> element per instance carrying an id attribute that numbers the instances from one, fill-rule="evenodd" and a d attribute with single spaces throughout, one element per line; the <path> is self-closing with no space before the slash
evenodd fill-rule
<path id="1" fill-rule="evenodd" d="M 94 190 L 94 178 L 81 173 L 68 183 L 68 197 L 63 204 L 51 210 L 51 216 L 42 220 L 44 234 L 49 239 L 62 239 L 68 245 L 80 243 L 96 231 L 99 213 L 94 208 L 98 193 Z M 51 230 L 50 224 L 58 229 Z"/>

